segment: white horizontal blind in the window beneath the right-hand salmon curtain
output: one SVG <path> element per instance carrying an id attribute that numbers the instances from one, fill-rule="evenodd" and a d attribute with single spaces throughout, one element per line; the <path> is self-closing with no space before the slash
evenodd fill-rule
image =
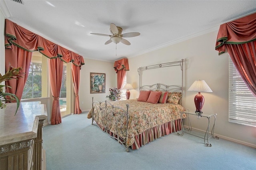
<path id="1" fill-rule="evenodd" d="M 229 57 L 229 122 L 256 127 L 256 97 Z"/>

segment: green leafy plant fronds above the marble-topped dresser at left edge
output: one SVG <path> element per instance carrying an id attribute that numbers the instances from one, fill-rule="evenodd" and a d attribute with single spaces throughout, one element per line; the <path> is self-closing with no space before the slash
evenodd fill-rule
<path id="1" fill-rule="evenodd" d="M 21 72 L 22 67 L 18 67 L 18 68 L 11 67 L 11 68 L 12 69 L 7 71 L 6 74 L 3 76 L 0 73 L 0 108 L 2 109 L 4 107 L 6 107 L 4 102 L 12 102 L 12 101 L 16 100 L 17 107 L 16 107 L 16 112 L 14 114 L 14 116 L 15 116 L 18 111 L 18 108 L 20 106 L 20 100 L 15 94 L 6 93 L 4 91 L 4 87 L 9 87 L 9 88 L 12 88 L 12 87 L 10 87 L 8 85 L 1 85 L 1 83 L 4 81 L 8 81 L 10 79 L 18 79 L 17 77 L 22 77 L 21 75 L 24 73 Z"/>

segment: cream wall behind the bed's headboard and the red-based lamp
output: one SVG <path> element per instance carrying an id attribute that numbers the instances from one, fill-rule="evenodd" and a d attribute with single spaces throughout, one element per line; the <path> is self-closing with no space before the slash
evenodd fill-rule
<path id="1" fill-rule="evenodd" d="M 130 58 L 130 71 L 127 72 L 127 81 L 136 88 L 130 91 L 130 98 L 136 98 L 139 95 L 139 75 L 137 72 L 139 67 L 185 59 L 184 107 L 192 111 L 195 110 L 194 96 L 196 92 L 187 91 L 187 89 L 195 80 L 205 80 L 213 93 L 202 93 L 205 98 L 202 110 L 205 113 L 218 114 L 214 133 L 222 138 L 256 147 L 255 127 L 228 122 L 228 53 L 219 56 L 218 51 L 214 49 L 217 34 L 218 31 L 210 32 L 203 36 Z M 164 76 L 168 79 L 163 79 L 165 83 L 170 82 L 172 84 L 172 79 L 180 76 L 179 69 L 177 69 L 177 72 L 171 70 L 162 72 L 160 69 L 162 68 L 153 69 L 154 72 L 150 72 L 150 74 L 144 71 L 143 79 L 147 82 L 152 80 L 152 83 L 162 83 L 158 82 L 158 77 Z M 170 84 L 168 83 L 168 85 Z M 145 84 L 143 83 L 143 85 Z M 194 128 L 206 130 L 207 119 L 190 118 Z M 211 123 L 213 123 L 212 120 Z M 187 121 L 185 121 L 185 125 L 188 125 Z"/>

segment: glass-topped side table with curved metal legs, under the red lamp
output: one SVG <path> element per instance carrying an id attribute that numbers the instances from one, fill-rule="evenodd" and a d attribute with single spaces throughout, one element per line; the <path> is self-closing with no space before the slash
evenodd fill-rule
<path id="1" fill-rule="evenodd" d="M 190 132 L 186 132 L 186 133 L 188 133 L 188 134 L 192 134 L 191 133 L 191 131 L 192 131 L 192 125 L 191 125 L 191 122 L 190 122 L 190 119 L 189 119 L 189 115 L 194 115 L 194 116 L 197 116 L 198 117 L 198 119 L 200 119 L 201 117 L 206 117 L 207 119 L 208 119 L 208 127 L 207 127 L 207 129 L 206 129 L 206 132 L 205 132 L 205 134 L 204 134 L 204 144 L 206 145 L 206 146 L 212 146 L 212 144 L 209 144 L 209 138 L 214 138 L 214 139 L 219 139 L 219 137 L 218 136 L 214 136 L 214 127 L 215 127 L 215 122 L 216 122 L 216 116 L 217 116 L 217 113 L 215 113 L 215 114 L 210 114 L 210 113 L 197 113 L 197 112 L 195 112 L 195 111 L 189 111 L 189 110 L 187 110 L 187 111 L 183 111 L 183 112 L 180 112 L 180 118 L 182 118 L 182 115 L 183 114 L 186 114 L 186 115 L 188 115 L 188 128 L 186 128 L 185 130 L 184 130 L 184 127 L 183 127 L 183 122 L 182 122 L 182 133 L 180 134 L 180 133 L 178 133 L 178 135 L 179 136 L 182 136 L 183 134 L 184 134 L 184 132 L 186 132 L 186 131 L 190 131 Z M 212 130 L 211 130 L 211 133 L 209 133 L 209 128 L 210 128 L 210 118 L 211 117 L 214 117 L 214 124 L 213 124 L 213 127 L 212 127 Z M 194 135 L 194 136 L 197 136 L 197 135 L 195 135 L 195 134 L 192 134 L 192 135 Z M 199 138 L 202 138 L 201 136 L 197 136 L 197 137 L 199 137 Z"/>

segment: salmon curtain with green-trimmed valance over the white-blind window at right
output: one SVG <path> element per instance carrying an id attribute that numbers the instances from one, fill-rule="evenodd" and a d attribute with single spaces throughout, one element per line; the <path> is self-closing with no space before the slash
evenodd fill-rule
<path id="1" fill-rule="evenodd" d="M 256 13 L 220 25 L 215 49 L 226 52 L 256 97 Z"/>

